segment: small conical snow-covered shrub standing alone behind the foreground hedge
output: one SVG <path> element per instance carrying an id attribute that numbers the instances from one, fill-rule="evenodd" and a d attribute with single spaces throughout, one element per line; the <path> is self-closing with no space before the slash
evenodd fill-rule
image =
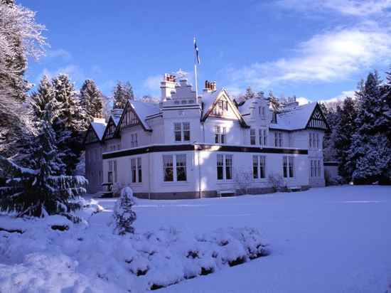
<path id="1" fill-rule="evenodd" d="M 136 220 L 136 213 L 132 211 L 133 205 L 132 188 L 129 186 L 122 188 L 121 196 L 114 206 L 114 233 L 118 235 L 134 233 L 132 223 Z"/>

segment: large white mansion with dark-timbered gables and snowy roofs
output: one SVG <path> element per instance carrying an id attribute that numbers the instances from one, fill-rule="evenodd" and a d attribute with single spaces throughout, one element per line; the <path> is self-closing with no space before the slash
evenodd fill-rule
<path id="1" fill-rule="evenodd" d="M 262 95 L 237 105 L 205 82 L 199 97 L 186 78 L 164 75 L 161 102 L 129 100 L 85 137 L 88 192 L 102 183 L 132 187 L 140 198 L 203 198 L 221 193 L 324 186 L 323 134 L 317 103 L 295 100 L 274 112 Z"/>

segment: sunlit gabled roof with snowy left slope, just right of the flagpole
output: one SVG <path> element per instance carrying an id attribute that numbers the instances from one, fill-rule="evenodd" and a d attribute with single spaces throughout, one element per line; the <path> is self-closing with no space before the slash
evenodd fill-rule
<path id="1" fill-rule="evenodd" d="M 243 127 L 248 127 L 248 125 L 245 122 L 245 119 L 243 119 L 242 115 L 240 114 L 239 110 L 237 110 L 236 105 L 234 102 L 232 102 L 232 99 L 230 98 L 230 95 L 228 95 L 227 90 L 225 88 L 221 87 L 219 90 L 215 90 L 215 92 L 205 92 L 202 96 L 202 102 L 203 102 L 203 114 L 201 116 L 201 121 L 205 121 L 210 113 L 212 112 L 215 105 L 218 103 L 218 100 L 220 97 L 227 97 L 227 101 L 230 104 L 230 107 L 232 108 L 233 112 L 235 113 L 237 119 L 239 119 L 240 124 Z"/>

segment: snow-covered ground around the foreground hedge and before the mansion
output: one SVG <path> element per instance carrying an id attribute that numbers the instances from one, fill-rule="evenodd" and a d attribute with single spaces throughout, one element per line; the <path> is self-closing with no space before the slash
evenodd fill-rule
<path id="1" fill-rule="evenodd" d="M 99 202 L 105 211 L 90 218 L 87 230 L 105 234 L 103 231 L 108 229 L 114 200 Z M 137 232 L 164 226 L 183 233 L 204 233 L 218 228 L 247 226 L 259 229 L 263 242 L 268 245 L 270 254 L 266 257 L 184 280 L 159 289 L 159 292 L 391 292 L 390 187 L 338 186 L 297 193 L 182 201 L 138 199 L 134 211 Z M 116 245 L 124 245 L 120 240 L 115 241 Z M 87 235 L 84 242 L 87 242 Z M 79 292 L 77 288 L 80 292 L 85 288 L 92 292 L 120 288 L 107 284 L 105 277 L 88 279 L 90 272 L 82 265 L 86 260 L 82 260 L 81 255 L 87 255 L 91 245 L 88 247 L 85 243 L 85 252 L 80 247 L 77 252 L 72 251 L 72 255 L 79 255 L 80 265 L 65 256 L 75 250 L 71 243 L 55 243 L 56 249 L 50 252 L 51 255 L 41 251 L 45 245 L 36 247 L 35 255 L 20 260 L 6 257 L 16 253 L 11 247 L 0 247 L 1 293 L 5 278 L 16 283 L 19 278 L 23 283 L 26 275 L 36 275 L 36 282 L 47 282 L 47 292 L 57 288 L 56 282 L 62 282 L 63 288 L 72 288 L 70 292 Z M 107 252 L 100 243 L 95 247 L 102 255 L 112 254 L 112 247 L 107 247 Z M 26 247 L 20 244 L 20 249 Z M 116 249 L 118 255 L 126 250 L 124 246 L 114 247 Z M 58 265 L 50 265 L 53 257 L 58 257 Z M 1 262 L 5 266 L 2 267 Z M 107 260 L 107 267 L 101 268 L 102 275 L 116 272 L 126 276 L 121 270 L 112 260 Z M 53 271 L 58 274 L 49 274 L 47 279 L 40 277 Z M 7 275 L 1 276 L 1 272 Z M 65 274 L 69 275 L 65 277 Z"/>

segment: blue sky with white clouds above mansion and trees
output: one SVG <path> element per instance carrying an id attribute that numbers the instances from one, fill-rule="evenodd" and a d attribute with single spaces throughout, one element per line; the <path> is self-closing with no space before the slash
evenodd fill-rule
<path id="1" fill-rule="evenodd" d="M 48 1 L 20 0 L 48 31 L 44 58 L 27 78 L 68 73 L 110 95 L 129 80 L 137 97 L 159 96 L 164 73 L 193 71 L 232 94 L 254 90 L 329 100 L 391 65 L 391 0 Z M 192 78 L 193 75 L 189 75 Z M 193 80 L 191 80 L 193 82 Z"/>

